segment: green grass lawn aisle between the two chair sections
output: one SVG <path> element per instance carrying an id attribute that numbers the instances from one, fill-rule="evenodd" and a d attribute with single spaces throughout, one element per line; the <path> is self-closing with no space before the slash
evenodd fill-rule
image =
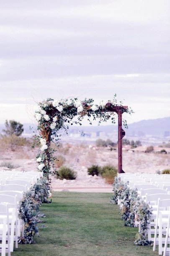
<path id="1" fill-rule="evenodd" d="M 34 245 L 19 245 L 12 256 L 154 256 L 152 247 L 134 245 L 137 228 L 124 227 L 110 193 L 54 193 L 43 204 L 45 227 Z"/>

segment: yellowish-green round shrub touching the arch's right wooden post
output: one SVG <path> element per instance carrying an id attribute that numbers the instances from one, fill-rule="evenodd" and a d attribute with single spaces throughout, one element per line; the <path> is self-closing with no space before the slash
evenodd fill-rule
<path id="1" fill-rule="evenodd" d="M 113 184 L 114 178 L 117 176 L 117 173 L 118 170 L 111 165 L 105 165 L 101 170 L 102 177 L 106 179 L 106 182 L 109 184 Z"/>

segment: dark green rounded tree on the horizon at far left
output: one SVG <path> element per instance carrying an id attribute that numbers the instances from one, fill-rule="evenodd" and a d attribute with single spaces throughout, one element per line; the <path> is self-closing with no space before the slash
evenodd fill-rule
<path id="1" fill-rule="evenodd" d="M 3 132 L 6 135 L 16 135 L 20 136 L 23 133 L 23 124 L 20 122 L 17 122 L 15 120 L 6 120 L 5 121 L 5 129 L 3 129 Z"/>

